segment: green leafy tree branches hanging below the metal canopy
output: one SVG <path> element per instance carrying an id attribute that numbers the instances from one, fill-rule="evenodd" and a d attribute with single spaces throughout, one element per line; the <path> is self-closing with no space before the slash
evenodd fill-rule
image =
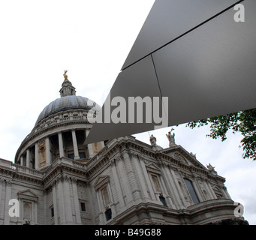
<path id="1" fill-rule="evenodd" d="M 206 136 L 212 139 L 221 138 L 222 142 L 227 139 L 228 130 L 232 130 L 233 133 L 240 132 L 243 136 L 239 145 L 244 151 L 242 157 L 256 160 L 256 109 L 191 121 L 186 127 L 193 129 L 208 124 L 210 124 L 210 133 Z"/>

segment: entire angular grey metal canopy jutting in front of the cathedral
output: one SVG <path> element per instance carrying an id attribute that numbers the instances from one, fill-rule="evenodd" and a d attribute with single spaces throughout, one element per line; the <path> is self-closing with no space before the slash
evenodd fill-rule
<path id="1" fill-rule="evenodd" d="M 245 22 L 234 20 L 238 3 Z M 164 127 L 255 108 L 255 12 L 254 0 L 156 0 L 108 102 L 167 97 L 159 103 Z M 86 143 L 153 129 L 155 122 L 96 122 Z"/>

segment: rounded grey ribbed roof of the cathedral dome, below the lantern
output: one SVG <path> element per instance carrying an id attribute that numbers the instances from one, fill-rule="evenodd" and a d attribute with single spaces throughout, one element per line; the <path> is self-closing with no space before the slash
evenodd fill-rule
<path id="1" fill-rule="evenodd" d="M 89 98 L 83 98 L 76 95 L 68 95 L 62 98 L 57 98 L 55 101 L 52 101 L 38 116 L 38 120 L 35 122 L 35 125 L 38 124 L 44 118 L 47 118 L 49 115 L 58 113 L 63 110 L 71 109 L 84 109 L 90 110 L 92 107 L 95 107 L 96 110 L 100 110 L 101 107 L 96 104 L 94 101 L 89 100 Z"/>

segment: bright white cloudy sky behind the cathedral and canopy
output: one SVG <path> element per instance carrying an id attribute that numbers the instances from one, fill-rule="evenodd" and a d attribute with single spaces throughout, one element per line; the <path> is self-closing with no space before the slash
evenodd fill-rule
<path id="1" fill-rule="evenodd" d="M 59 98 L 64 70 L 77 95 L 102 106 L 153 0 L 0 1 L 0 157 L 14 161 L 41 110 Z M 168 147 L 167 127 L 150 131 Z M 208 127 L 175 127 L 176 144 L 211 163 L 244 217 L 256 224 L 256 163 L 242 159 L 241 136 L 206 138 Z M 149 133 L 134 135 L 149 143 Z"/>

